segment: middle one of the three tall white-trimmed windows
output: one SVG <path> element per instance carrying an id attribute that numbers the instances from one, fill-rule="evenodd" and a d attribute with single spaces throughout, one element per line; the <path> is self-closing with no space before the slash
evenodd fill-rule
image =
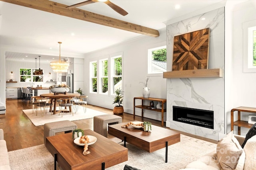
<path id="1" fill-rule="evenodd" d="M 100 60 L 100 93 L 108 94 L 108 59 Z"/>

